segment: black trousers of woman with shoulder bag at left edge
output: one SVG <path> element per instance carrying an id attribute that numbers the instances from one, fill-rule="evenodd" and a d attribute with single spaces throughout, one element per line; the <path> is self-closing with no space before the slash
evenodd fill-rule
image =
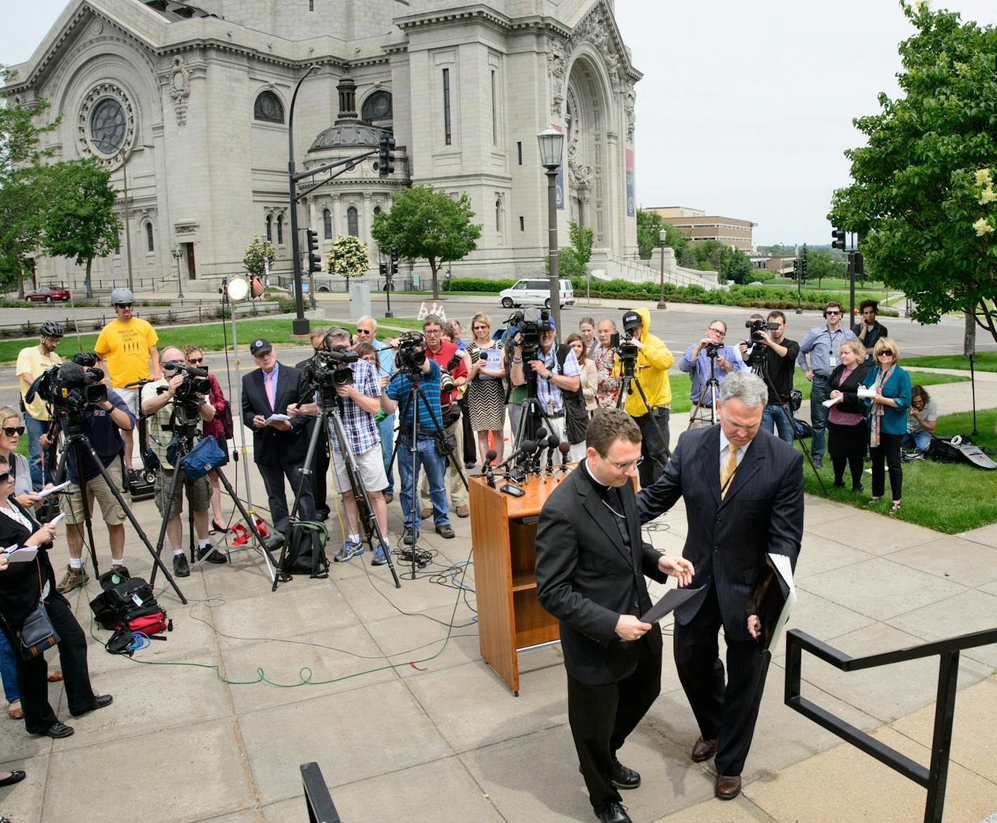
<path id="1" fill-rule="evenodd" d="M 79 713 L 94 701 L 90 670 L 87 668 L 87 636 L 73 616 L 73 610 L 66 599 L 58 592 L 49 595 L 45 611 L 59 635 L 59 662 L 62 664 L 69 710 Z M 24 709 L 24 727 L 29 734 L 42 734 L 59 719 L 49 703 L 48 664 L 43 655 L 30 661 L 24 660 L 17 641 L 7 632 L 3 621 L 0 621 L 0 627 L 10 641 L 17 664 L 17 687 L 21 692 L 21 707 Z"/>

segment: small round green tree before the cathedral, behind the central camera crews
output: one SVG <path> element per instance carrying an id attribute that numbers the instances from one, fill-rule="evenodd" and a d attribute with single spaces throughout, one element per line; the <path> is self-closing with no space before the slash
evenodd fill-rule
<path id="1" fill-rule="evenodd" d="M 466 193 L 455 200 L 432 186 L 414 185 L 374 217 L 371 237 L 383 249 L 394 246 L 400 257 L 425 257 L 433 272 L 433 297 L 439 299 L 441 265 L 478 248 L 482 227 L 471 222 L 474 216 Z"/>

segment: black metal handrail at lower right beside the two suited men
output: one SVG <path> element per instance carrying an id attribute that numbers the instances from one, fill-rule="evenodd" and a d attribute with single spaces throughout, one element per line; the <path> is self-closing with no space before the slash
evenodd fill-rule
<path id="1" fill-rule="evenodd" d="M 948 779 L 948 758 L 952 747 L 952 721 L 955 717 L 955 692 L 959 677 L 959 652 L 997 643 L 997 629 L 959 635 L 955 638 L 883 652 L 864 658 L 852 658 L 806 632 L 793 629 L 786 635 L 786 704 L 805 717 L 823 725 L 842 740 L 875 757 L 891 769 L 927 789 L 924 804 L 925 823 L 941 823 L 945 804 L 945 783 Z M 875 669 L 892 663 L 920 660 L 937 656 L 938 691 L 935 697 L 934 734 L 931 740 L 931 764 L 928 767 L 900 754 L 871 735 L 846 723 L 830 711 L 800 694 L 803 653 L 810 652 L 841 672 Z"/>

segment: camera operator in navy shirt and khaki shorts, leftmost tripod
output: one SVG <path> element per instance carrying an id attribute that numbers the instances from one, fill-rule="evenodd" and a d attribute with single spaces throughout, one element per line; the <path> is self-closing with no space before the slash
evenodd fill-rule
<path id="1" fill-rule="evenodd" d="M 84 353 L 85 354 L 85 353 Z M 77 360 L 85 360 L 78 354 L 73 361 L 59 367 L 60 380 L 82 382 L 83 367 Z M 86 362 L 96 362 L 93 360 Z M 128 408 L 118 393 L 109 389 L 107 398 L 98 404 L 88 404 L 80 412 L 83 417 L 82 431 L 87 435 L 90 444 L 97 452 L 101 464 L 107 469 L 115 485 L 123 487 L 122 456 L 125 451 L 125 441 L 122 431 L 131 432 L 135 428 L 135 415 Z M 68 433 L 68 420 L 65 414 L 59 417 L 63 426 L 64 436 Z M 43 434 L 42 445 L 48 447 L 50 440 Z M 125 509 L 111 491 L 111 487 L 101 474 L 100 468 L 94 462 L 93 455 L 87 448 L 83 453 L 83 477 L 87 482 L 87 511 L 93 513 L 94 500 L 101 507 L 101 516 L 108 527 L 108 543 L 111 546 L 112 568 L 125 565 Z M 66 470 L 70 485 L 59 501 L 60 510 L 66 515 L 66 541 L 69 544 L 69 565 L 66 574 L 56 587 L 60 592 L 71 592 L 87 582 L 87 570 L 83 568 L 83 492 L 80 489 L 80 473 L 76 464 L 76 449 L 67 447 Z"/>

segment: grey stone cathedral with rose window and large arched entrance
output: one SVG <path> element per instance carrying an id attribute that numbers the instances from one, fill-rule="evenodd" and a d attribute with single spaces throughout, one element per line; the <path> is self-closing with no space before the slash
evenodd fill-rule
<path id="1" fill-rule="evenodd" d="M 46 116 L 62 117 L 45 136 L 55 158 L 113 169 L 128 237 L 94 262 L 96 288 L 122 284 L 129 255 L 138 288 L 238 272 L 253 234 L 272 240 L 276 272 L 290 271 L 288 128 L 306 74 L 293 111 L 299 170 L 375 148 L 383 130 L 397 143 L 391 177 L 374 154 L 314 178 L 325 181 L 298 224 L 324 248 L 357 235 L 376 271 L 371 221 L 400 186 L 424 183 L 467 192 L 483 225 L 455 277 L 539 273 L 547 181 L 536 134 L 548 124 L 566 137 L 561 245 L 575 219 L 593 228 L 600 268 L 637 247 L 641 75 L 612 0 L 71 0 L 12 68 L 17 98 L 45 98 Z M 36 275 L 78 288 L 83 277 L 62 258 L 39 258 Z"/>

